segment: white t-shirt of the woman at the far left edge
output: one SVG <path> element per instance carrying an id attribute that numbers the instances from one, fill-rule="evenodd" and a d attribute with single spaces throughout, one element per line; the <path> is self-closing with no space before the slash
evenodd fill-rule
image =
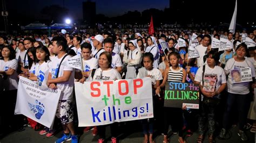
<path id="1" fill-rule="evenodd" d="M 7 71 L 9 68 L 17 70 L 18 61 L 13 59 L 11 61 L 5 62 L 0 60 L 0 71 Z M 12 75 L 9 75 L 6 80 L 3 80 L 4 90 L 15 90 L 18 88 L 18 75 L 16 71 Z"/>

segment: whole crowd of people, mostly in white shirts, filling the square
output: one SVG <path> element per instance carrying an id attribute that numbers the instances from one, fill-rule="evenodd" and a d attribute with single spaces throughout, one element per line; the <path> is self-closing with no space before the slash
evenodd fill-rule
<path id="1" fill-rule="evenodd" d="M 19 76 L 29 78 L 40 87 L 60 89 L 56 111 L 63 126 L 63 136 L 56 142 L 72 140 L 78 142 L 73 115 L 74 82 L 113 81 L 120 79 L 150 77 L 152 81 L 154 118 L 140 121 L 143 127 L 144 142 L 153 142 L 156 130 L 164 135 L 163 142 L 169 142 L 169 125 L 172 132 L 178 134 L 179 142 L 185 142 L 184 133 L 192 135 L 197 131 L 197 142 L 205 138 L 205 126 L 208 126 L 208 141 L 214 142 L 215 128 L 222 128 L 218 138 L 227 139 L 231 125 L 238 124 L 241 140 L 248 140 L 246 130 L 256 132 L 255 105 L 255 69 L 256 49 L 241 42 L 242 37 L 251 38 L 255 44 L 256 30 L 251 33 L 235 32 L 219 34 L 217 31 L 201 31 L 192 38 L 193 32 L 176 33 L 158 31 L 146 37 L 147 33 L 123 33 L 111 37 L 109 33 L 91 36 L 86 33 L 68 33 L 41 36 L 37 41 L 31 37 L 14 39 L 9 45 L 5 37 L 0 36 L 0 92 L 1 106 L 8 108 L 1 113 L 0 124 L 6 132 L 9 126 L 17 126 L 17 120 L 28 120 L 23 116 L 14 116 Z M 225 51 L 211 48 L 212 38 L 226 38 L 233 47 Z M 185 45 L 179 44 L 183 39 Z M 163 47 L 159 40 L 166 42 Z M 238 44 L 241 43 L 241 44 Z M 199 54 L 198 58 L 189 58 L 188 47 L 192 46 Z M 80 54 L 83 70 L 63 65 L 65 61 Z M 252 81 L 234 82 L 233 69 L 250 68 Z M 205 77 L 211 77 L 213 83 L 204 90 Z M 240 76 L 241 78 L 241 76 Z M 200 109 L 167 108 L 163 104 L 166 82 L 188 82 L 200 85 Z M 158 103 L 158 104 L 157 104 Z M 222 108 L 223 112 L 217 112 Z M 236 112 L 234 115 L 233 112 Z M 219 118 L 219 119 L 218 119 Z M 217 123 L 218 122 L 218 126 Z M 55 123 L 57 124 L 57 123 Z M 158 127 L 154 125 L 158 125 Z M 194 124 L 198 126 L 194 127 Z M 33 126 L 38 128 L 38 123 Z M 84 132 L 93 128 L 93 135 L 99 135 L 98 142 L 105 140 L 106 125 L 85 127 Z M 117 142 L 118 123 L 110 124 L 111 141 Z M 39 134 L 52 137 L 56 128 L 39 127 Z"/>

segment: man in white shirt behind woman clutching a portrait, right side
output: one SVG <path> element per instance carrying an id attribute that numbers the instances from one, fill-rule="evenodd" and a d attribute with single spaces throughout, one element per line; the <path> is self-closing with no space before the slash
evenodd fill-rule
<path id="1" fill-rule="evenodd" d="M 211 36 L 208 35 L 208 34 L 205 34 L 203 36 L 202 44 L 195 47 L 198 51 L 198 54 L 199 54 L 199 58 L 197 58 L 197 66 L 198 67 L 203 66 L 200 63 L 204 63 L 204 62 L 201 62 L 201 60 L 203 60 L 202 57 L 206 54 L 206 49 L 207 49 L 208 45 L 211 45 L 211 41 L 212 41 Z"/>

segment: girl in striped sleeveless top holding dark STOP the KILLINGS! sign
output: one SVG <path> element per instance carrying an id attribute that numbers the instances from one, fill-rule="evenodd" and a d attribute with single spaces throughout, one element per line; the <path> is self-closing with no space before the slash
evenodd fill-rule
<path id="1" fill-rule="evenodd" d="M 160 92 L 160 88 L 165 86 L 167 82 L 185 82 L 186 81 L 186 70 L 179 67 L 180 55 L 179 53 L 172 52 L 168 56 L 170 62 L 170 68 L 165 69 L 165 75 L 163 83 L 156 89 L 156 94 Z M 174 115 L 174 116 L 173 116 Z M 179 142 L 185 142 L 183 140 L 183 111 L 181 108 L 164 108 L 164 141 L 168 142 L 167 133 L 169 125 L 171 123 L 172 131 L 179 132 Z"/>

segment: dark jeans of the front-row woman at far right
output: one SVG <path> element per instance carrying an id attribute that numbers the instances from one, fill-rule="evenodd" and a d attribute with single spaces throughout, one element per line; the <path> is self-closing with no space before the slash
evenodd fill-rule
<path id="1" fill-rule="evenodd" d="M 234 108 L 238 110 L 238 128 L 244 130 L 247 114 L 250 107 L 250 94 L 240 95 L 228 92 L 227 105 L 223 118 L 223 127 L 227 130 L 231 122 L 231 113 Z"/>

